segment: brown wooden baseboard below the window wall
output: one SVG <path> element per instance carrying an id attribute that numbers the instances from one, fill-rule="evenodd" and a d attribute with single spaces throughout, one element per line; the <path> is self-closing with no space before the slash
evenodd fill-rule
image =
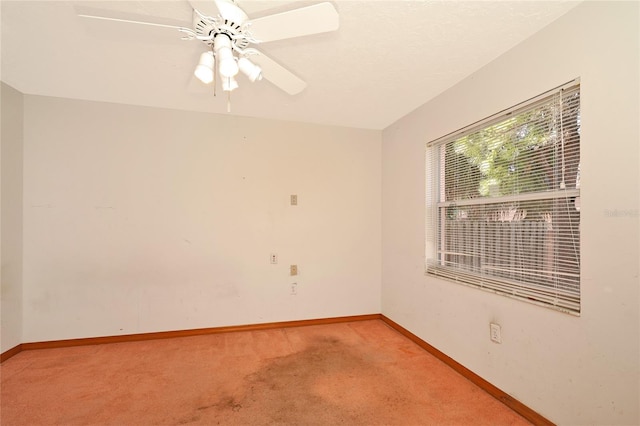
<path id="1" fill-rule="evenodd" d="M 478 376 L 476 373 L 474 373 L 473 371 L 469 370 L 467 367 L 465 367 L 464 365 L 460 364 L 459 362 L 457 362 L 456 360 L 454 360 L 450 356 L 446 355 L 443 352 L 440 352 L 438 349 L 434 348 L 433 346 L 431 346 L 430 344 L 428 344 L 427 342 L 425 342 L 424 340 L 422 340 L 421 338 L 419 338 L 418 336 L 416 336 L 415 334 L 413 334 L 412 332 L 410 332 L 406 328 L 402 327 L 400 324 L 398 324 L 395 321 L 387 318 L 384 315 L 380 315 L 380 317 L 381 317 L 380 319 L 382 321 L 384 321 L 387 325 L 389 325 L 391 328 L 393 328 L 394 330 L 396 330 L 397 332 L 399 332 L 403 336 L 407 337 L 409 340 L 411 340 L 414 343 L 416 343 L 418 346 L 420 346 L 422 349 L 426 350 L 431 355 L 433 355 L 436 358 L 438 358 L 440 361 L 442 361 L 445 364 L 447 364 L 449 367 L 451 367 L 453 370 L 458 372 L 460 375 L 462 375 L 463 377 L 465 377 L 466 379 L 471 381 L 473 384 L 475 384 L 479 388 L 483 389 L 489 395 L 493 396 L 498 401 L 502 402 L 504 405 L 506 405 L 507 407 L 511 408 L 516 413 L 520 414 L 525 419 L 529 420 L 534 425 L 540 425 L 540 426 L 543 426 L 543 425 L 544 426 L 553 426 L 554 425 L 554 423 L 551 422 L 549 419 L 545 418 L 541 414 L 539 414 L 539 413 L 535 412 L 534 410 L 532 410 L 531 408 L 527 407 L 526 405 L 524 405 L 523 403 L 521 403 L 517 399 L 513 398 L 508 393 L 506 393 L 506 392 L 500 390 L 499 388 L 497 388 L 496 386 L 492 385 L 491 383 L 489 383 L 488 381 L 486 381 L 482 377 Z"/>

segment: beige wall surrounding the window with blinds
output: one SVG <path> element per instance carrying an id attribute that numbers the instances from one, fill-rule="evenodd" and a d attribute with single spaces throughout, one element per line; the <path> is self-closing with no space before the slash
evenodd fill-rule
<path id="1" fill-rule="evenodd" d="M 559 424 L 640 423 L 638 17 L 582 3 L 383 132 L 382 312 Z M 425 143 L 576 77 L 582 315 L 426 277 Z"/>

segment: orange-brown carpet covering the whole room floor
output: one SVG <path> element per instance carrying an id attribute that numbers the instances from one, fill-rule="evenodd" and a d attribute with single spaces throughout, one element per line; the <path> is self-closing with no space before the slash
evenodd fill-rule
<path id="1" fill-rule="evenodd" d="M 12 425 L 528 425 L 380 320 L 24 351 Z"/>

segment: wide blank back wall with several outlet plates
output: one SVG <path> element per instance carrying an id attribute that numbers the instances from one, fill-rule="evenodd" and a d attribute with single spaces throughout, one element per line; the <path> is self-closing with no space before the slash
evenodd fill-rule
<path id="1" fill-rule="evenodd" d="M 24 108 L 25 342 L 380 312 L 379 131 Z"/>

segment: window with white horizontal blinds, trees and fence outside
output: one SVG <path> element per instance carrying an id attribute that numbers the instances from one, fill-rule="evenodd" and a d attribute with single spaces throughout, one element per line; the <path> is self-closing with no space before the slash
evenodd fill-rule
<path id="1" fill-rule="evenodd" d="M 427 144 L 427 274 L 580 312 L 580 86 Z"/>

